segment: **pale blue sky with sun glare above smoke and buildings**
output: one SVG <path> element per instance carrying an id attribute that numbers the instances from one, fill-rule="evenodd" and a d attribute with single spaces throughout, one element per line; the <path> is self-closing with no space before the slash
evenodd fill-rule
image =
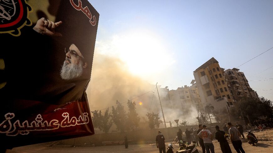
<path id="1" fill-rule="evenodd" d="M 100 14 L 95 52 L 169 89 L 190 85 L 193 71 L 212 57 L 232 69 L 273 47 L 271 0 L 88 1 Z M 238 67 L 271 100 L 272 57 L 273 48 Z"/>

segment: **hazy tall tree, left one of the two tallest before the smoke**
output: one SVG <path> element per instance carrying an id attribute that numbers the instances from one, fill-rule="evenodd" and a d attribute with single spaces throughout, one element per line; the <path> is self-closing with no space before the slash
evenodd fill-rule
<path id="1" fill-rule="evenodd" d="M 117 130 L 120 132 L 124 132 L 126 130 L 126 112 L 124 110 L 124 106 L 120 104 L 120 102 L 116 101 L 116 108 L 112 106 L 112 120 L 114 124 L 117 126 Z"/>

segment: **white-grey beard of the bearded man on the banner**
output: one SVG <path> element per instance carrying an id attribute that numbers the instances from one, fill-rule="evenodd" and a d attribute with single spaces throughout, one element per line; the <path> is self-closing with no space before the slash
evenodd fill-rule
<path id="1" fill-rule="evenodd" d="M 63 62 L 60 75 L 62 79 L 70 80 L 80 77 L 83 74 L 83 61 L 80 61 L 79 64 L 71 64 L 68 66 L 66 62 Z"/>

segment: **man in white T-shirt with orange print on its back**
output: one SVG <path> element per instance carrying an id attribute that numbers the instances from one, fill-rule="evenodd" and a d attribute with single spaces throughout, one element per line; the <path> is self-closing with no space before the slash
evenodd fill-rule
<path id="1" fill-rule="evenodd" d="M 207 127 L 206 125 L 203 125 L 203 130 L 201 130 L 198 133 L 198 136 L 204 140 L 206 153 L 210 153 L 210 150 L 211 150 L 211 153 L 215 153 L 214 152 L 214 145 L 212 144 L 213 136 L 212 136 L 211 132 L 209 130 L 207 130 L 206 127 Z"/>

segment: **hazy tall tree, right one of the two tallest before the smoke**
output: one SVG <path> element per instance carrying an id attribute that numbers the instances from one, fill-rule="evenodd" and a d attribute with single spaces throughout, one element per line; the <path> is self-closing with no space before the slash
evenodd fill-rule
<path id="1" fill-rule="evenodd" d="M 127 113 L 127 127 L 129 130 L 133 130 L 138 126 L 138 123 L 140 121 L 140 117 L 136 113 L 136 102 L 132 102 L 132 100 L 128 100 L 127 106 L 129 108 Z"/>

